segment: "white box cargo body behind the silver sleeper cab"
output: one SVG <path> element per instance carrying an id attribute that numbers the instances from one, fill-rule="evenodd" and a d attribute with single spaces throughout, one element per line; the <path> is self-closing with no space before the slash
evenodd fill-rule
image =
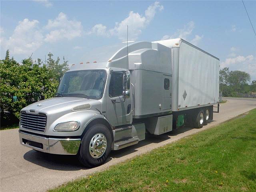
<path id="1" fill-rule="evenodd" d="M 172 50 L 172 111 L 219 102 L 218 58 L 181 38 L 156 42 Z"/>

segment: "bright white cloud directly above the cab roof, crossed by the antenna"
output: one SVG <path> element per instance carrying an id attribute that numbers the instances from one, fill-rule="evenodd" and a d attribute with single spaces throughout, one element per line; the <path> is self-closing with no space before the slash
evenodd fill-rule
<path id="1" fill-rule="evenodd" d="M 127 25 L 129 40 L 136 40 L 144 29 L 154 18 L 156 11 L 161 11 L 164 6 L 159 2 L 154 2 L 145 10 L 145 15 L 131 11 L 129 16 L 121 22 L 116 22 L 114 28 L 107 29 L 103 24 L 96 24 L 88 34 L 96 33 L 101 36 L 118 36 L 120 40 L 126 40 Z"/>

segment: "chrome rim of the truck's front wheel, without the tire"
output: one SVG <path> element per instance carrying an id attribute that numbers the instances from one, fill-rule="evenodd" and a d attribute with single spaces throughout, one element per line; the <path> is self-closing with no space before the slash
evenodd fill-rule
<path id="1" fill-rule="evenodd" d="M 89 143 L 90 155 L 94 159 L 98 159 L 105 153 L 106 148 L 107 148 L 106 136 L 102 133 L 95 134 Z"/>

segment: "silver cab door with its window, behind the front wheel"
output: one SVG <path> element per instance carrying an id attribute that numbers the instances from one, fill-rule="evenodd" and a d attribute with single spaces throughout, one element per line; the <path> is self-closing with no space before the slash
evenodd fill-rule
<path id="1" fill-rule="evenodd" d="M 127 72 L 126 98 L 123 98 L 123 80 L 125 72 L 120 69 L 110 69 L 106 95 L 106 117 L 112 126 L 130 124 L 131 97 L 130 72 Z"/>

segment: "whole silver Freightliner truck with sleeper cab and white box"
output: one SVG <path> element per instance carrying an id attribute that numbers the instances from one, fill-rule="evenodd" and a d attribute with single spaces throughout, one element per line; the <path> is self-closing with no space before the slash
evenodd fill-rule
<path id="1" fill-rule="evenodd" d="M 218 58 L 180 38 L 135 42 L 108 62 L 72 65 L 54 98 L 23 108 L 20 143 L 95 167 L 146 133 L 201 128 L 218 97 Z"/>

